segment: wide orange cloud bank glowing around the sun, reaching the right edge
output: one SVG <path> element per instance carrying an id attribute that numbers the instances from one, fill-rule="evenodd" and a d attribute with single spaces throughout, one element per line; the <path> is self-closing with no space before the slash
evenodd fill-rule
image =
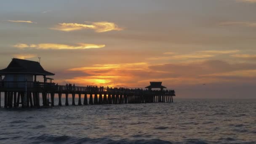
<path id="1" fill-rule="evenodd" d="M 253 74 L 255 70 L 256 64 L 231 64 L 220 60 L 179 64 L 149 64 L 147 62 L 95 64 L 67 69 L 67 72 L 71 72 L 74 76 L 69 75 L 64 81 L 77 85 L 139 88 L 147 86 L 149 81 L 163 81 L 163 85 L 173 88 L 183 85 L 202 85 L 202 83 L 247 83 L 251 77 L 256 78 L 255 73 Z"/>

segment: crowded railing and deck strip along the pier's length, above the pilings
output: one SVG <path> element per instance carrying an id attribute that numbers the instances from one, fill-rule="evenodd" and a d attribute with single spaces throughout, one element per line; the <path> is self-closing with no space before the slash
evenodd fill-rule
<path id="1" fill-rule="evenodd" d="M 17 91 L 25 91 L 28 89 L 29 91 L 54 91 L 54 92 L 74 92 L 74 93 L 135 93 L 135 94 L 168 94 L 171 96 L 175 96 L 174 90 L 163 90 L 163 91 L 149 91 L 143 90 L 140 88 L 111 88 L 104 86 L 74 86 L 74 85 L 56 85 L 55 83 L 42 83 L 42 82 L 32 82 L 32 81 L 12 81 L 12 82 L 0 82 L 0 90 L 8 91 L 8 90 L 17 90 Z"/>

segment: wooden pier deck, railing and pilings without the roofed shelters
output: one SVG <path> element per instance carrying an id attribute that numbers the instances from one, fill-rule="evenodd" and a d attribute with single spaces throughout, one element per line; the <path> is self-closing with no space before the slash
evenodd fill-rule
<path id="1" fill-rule="evenodd" d="M 54 107 L 55 94 L 59 97 L 57 105 L 62 106 L 61 98 L 66 97 L 65 105 L 69 106 L 68 96 L 72 95 L 72 105 L 88 104 L 141 104 L 141 103 L 172 103 L 173 90 L 143 90 L 139 88 L 108 88 L 97 86 L 66 86 L 53 83 L 37 82 L 0 82 L 0 92 L 4 92 L 4 107 Z M 50 95 L 50 99 L 48 99 Z M 75 103 L 78 95 L 78 103 Z M 88 101 L 89 98 L 89 101 Z"/>

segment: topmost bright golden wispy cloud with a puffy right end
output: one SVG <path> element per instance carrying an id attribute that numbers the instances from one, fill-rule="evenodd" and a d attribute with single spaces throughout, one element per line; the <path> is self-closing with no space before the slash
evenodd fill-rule
<path id="1" fill-rule="evenodd" d="M 101 21 L 101 22 L 86 22 L 87 24 L 77 24 L 77 23 L 59 23 L 56 27 L 51 29 L 60 30 L 60 31 L 75 31 L 82 29 L 94 29 L 95 32 L 109 32 L 113 30 L 123 30 L 117 26 L 117 24 Z"/>

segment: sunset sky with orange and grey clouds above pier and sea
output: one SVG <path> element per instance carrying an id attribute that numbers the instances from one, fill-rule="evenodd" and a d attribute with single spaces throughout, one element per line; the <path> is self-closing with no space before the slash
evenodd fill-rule
<path id="1" fill-rule="evenodd" d="M 59 85 L 256 98 L 255 13 L 256 0 L 6 0 L 0 69 L 40 57 Z"/>

